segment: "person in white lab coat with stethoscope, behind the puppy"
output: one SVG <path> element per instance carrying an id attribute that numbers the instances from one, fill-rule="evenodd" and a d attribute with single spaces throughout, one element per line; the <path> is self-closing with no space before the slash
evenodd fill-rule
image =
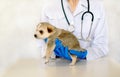
<path id="1" fill-rule="evenodd" d="M 104 8 L 98 0 L 53 0 L 52 4 L 43 9 L 41 22 L 49 22 L 57 28 L 71 31 L 81 47 L 86 49 L 86 60 L 95 60 L 108 54 Z M 44 45 L 45 42 L 41 40 L 42 54 Z"/>

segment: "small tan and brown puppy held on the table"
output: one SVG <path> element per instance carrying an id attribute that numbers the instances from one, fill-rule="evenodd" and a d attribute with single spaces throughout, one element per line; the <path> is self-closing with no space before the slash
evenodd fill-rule
<path id="1" fill-rule="evenodd" d="M 45 54 L 45 64 L 49 62 L 49 58 L 54 51 L 56 38 L 61 40 L 64 46 L 68 46 L 69 50 L 84 50 L 80 47 L 77 38 L 71 32 L 63 29 L 58 29 L 47 22 L 41 22 L 40 24 L 38 24 L 34 37 L 37 39 L 48 38 L 47 50 Z M 70 65 L 74 65 L 77 61 L 77 56 L 71 54 L 69 55 L 72 59 Z"/>

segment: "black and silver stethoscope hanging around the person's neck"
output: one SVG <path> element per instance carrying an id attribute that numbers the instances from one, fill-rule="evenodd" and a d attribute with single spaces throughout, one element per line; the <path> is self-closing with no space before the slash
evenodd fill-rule
<path id="1" fill-rule="evenodd" d="M 91 35 L 91 31 L 92 31 L 92 26 L 93 26 L 93 21 L 94 21 L 94 15 L 93 13 L 90 11 L 90 3 L 89 3 L 89 0 L 87 0 L 87 4 L 88 4 L 88 10 L 85 11 L 83 14 L 82 14 L 82 17 L 81 17 L 81 34 L 80 36 L 78 36 L 78 39 L 79 40 L 83 40 L 83 41 L 91 41 L 91 38 L 90 38 L 90 35 Z M 69 28 L 68 28 L 68 31 L 70 32 L 74 32 L 75 28 L 73 26 L 73 24 L 70 24 L 68 18 L 67 18 L 67 15 L 65 13 L 65 9 L 64 9 L 64 5 L 63 5 L 63 0 L 61 0 L 61 5 L 62 5 L 62 10 L 63 10 L 63 13 L 64 13 L 64 16 L 65 16 L 65 19 L 69 25 Z M 84 16 L 86 14 L 90 14 L 92 17 L 91 17 L 91 24 L 90 24 L 90 29 L 89 29 L 89 33 L 88 33 L 88 36 L 86 38 L 83 37 L 83 20 L 84 20 Z"/>

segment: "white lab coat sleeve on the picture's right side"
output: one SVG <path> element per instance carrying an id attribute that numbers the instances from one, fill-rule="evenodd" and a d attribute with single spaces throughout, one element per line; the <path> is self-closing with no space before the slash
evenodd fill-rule
<path id="1" fill-rule="evenodd" d="M 101 6 L 101 18 L 94 31 L 91 46 L 87 48 L 87 60 L 104 57 L 108 53 L 108 27 L 105 22 L 105 14 Z"/>

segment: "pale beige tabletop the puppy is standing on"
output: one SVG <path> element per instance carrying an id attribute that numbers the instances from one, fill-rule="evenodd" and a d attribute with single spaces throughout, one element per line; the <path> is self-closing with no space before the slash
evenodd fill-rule
<path id="1" fill-rule="evenodd" d="M 120 62 L 111 58 L 94 61 L 81 60 L 75 66 L 70 61 L 52 59 L 21 59 L 11 66 L 3 77 L 120 77 Z"/>

